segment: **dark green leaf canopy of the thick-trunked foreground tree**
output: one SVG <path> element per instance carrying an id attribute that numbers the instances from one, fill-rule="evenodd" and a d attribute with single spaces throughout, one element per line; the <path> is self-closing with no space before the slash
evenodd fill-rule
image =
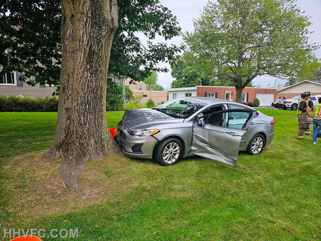
<path id="1" fill-rule="evenodd" d="M 178 36 L 176 17 L 159 0 L 118 0 L 119 24 L 111 49 L 108 74 L 143 81 L 151 71 L 168 71 L 159 61 L 171 61 L 180 47 L 153 43 L 156 36 Z M 4 0 L 0 10 L 0 65 L 4 71 L 34 76 L 28 84 L 59 85 L 61 65 L 59 0 Z M 12 26 L 15 26 L 14 28 Z M 143 33 L 143 45 L 137 33 Z M 13 38 L 12 38 L 13 37 Z M 9 52 L 5 50 L 11 49 Z"/>

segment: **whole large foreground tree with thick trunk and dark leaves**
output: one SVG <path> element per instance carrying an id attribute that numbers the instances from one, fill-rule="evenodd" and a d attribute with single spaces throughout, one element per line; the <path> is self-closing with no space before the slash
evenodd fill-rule
<path id="1" fill-rule="evenodd" d="M 61 0 L 61 12 L 57 0 L 6 0 L 0 14 L 3 70 L 34 76 L 30 85 L 60 85 L 56 134 L 46 156 L 62 157 L 59 175 L 80 194 L 78 178 L 87 160 L 119 150 L 106 123 L 110 56 L 109 68 L 118 76 L 143 80 L 152 69 L 164 70 L 155 65 L 170 60 L 178 47 L 151 41 L 143 46 L 135 33 L 170 39 L 179 32 L 176 18 L 158 0 L 123 0 L 118 6 L 117 0 Z"/>

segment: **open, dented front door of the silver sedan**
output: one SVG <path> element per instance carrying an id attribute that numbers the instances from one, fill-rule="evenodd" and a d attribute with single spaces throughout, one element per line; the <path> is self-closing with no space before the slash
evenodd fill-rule
<path id="1" fill-rule="evenodd" d="M 229 109 L 202 116 L 193 123 L 191 153 L 236 166 L 241 138 L 255 113 Z"/>

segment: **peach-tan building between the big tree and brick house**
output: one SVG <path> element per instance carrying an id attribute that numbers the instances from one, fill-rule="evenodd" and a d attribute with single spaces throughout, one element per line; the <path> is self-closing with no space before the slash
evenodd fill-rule
<path id="1" fill-rule="evenodd" d="M 124 79 L 124 85 L 127 85 L 133 91 L 133 95 L 143 94 L 144 97 L 140 103 L 144 104 L 149 99 L 152 99 L 155 104 L 167 102 L 167 91 L 147 90 L 147 85 L 144 82 L 133 82 L 130 84 L 131 80 L 131 78 Z"/>

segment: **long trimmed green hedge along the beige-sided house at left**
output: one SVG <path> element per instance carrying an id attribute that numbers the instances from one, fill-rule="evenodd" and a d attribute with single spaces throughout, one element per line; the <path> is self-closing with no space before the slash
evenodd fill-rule
<path id="1" fill-rule="evenodd" d="M 58 98 L 46 97 L 30 99 L 27 97 L 0 96 L 0 112 L 57 112 Z"/>

